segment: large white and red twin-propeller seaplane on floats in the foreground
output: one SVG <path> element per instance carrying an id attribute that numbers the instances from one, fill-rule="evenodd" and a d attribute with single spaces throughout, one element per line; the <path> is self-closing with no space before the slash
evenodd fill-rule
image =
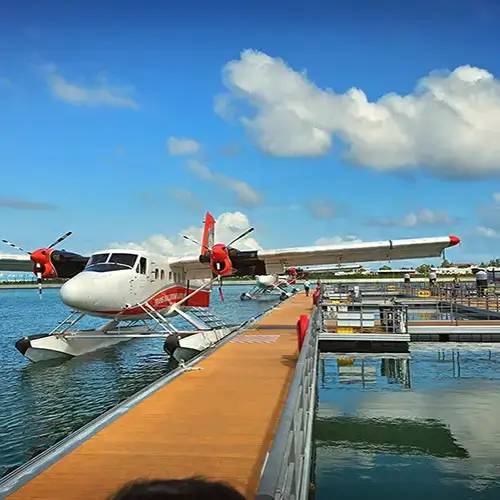
<path id="1" fill-rule="evenodd" d="M 165 352 L 183 362 L 245 327 L 245 323 L 226 325 L 209 311 L 213 285 L 218 282 L 222 295 L 224 277 L 282 274 L 297 266 L 439 257 L 460 243 L 456 236 L 445 236 L 239 250 L 234 244 L 254 228 L 230 243 L 214 244 L 215 225 L 207 212 L 202 242 L 184 236 L 200 246 L 198 256 L 166 257 L 115 248 L 84 257 L 54 248 L 65 237 L 32 252 L 4 241 L 25 255 L 0 256 L 1 270 L 31 270 L 40 282 L 71 276 L 60 289 L 71 314 L 48 333 L 21 338 L 15 344 L 17 350 L 38 362 L 80 356 L 130 339 L 165 338 Z M 75 329 L 86 316 L 106 322 L 96 329 Z M 173 321 L 179 317 L 194 329 L 179 329 Z"/>

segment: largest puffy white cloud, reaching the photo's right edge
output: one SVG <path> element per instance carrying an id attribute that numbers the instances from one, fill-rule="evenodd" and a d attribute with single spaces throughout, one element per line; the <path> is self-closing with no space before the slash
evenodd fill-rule
<path id="1" fill-rule="evenodd" d="M 321 89 L 305 71 L 255 50 L 228 62 L 223 78 L 229 93 L 216 99 L 215 110 L 225 117 L 239 100 L 249 104 L 254 112 L 239 120 L 268 154 L 322 156 L 337 136 L 350 161 L 379 171 L 500 172 L 500 81 L 484 69 L 433 72 L 412 93 L 373 102 L 358 88 Z"/>

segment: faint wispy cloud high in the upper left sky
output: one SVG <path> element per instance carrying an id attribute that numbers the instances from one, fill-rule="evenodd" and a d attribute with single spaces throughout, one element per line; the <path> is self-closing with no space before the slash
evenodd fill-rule
<path id="1" fill-rule="evenodd" d="M 83 85 L 63 78 L 54 64 L 46 64 L 41 70 L 52 95 L 61 101 L 75 106 L 139 108 L 139 104 L 131 97 L 134 87 L 110 85 L 104 74 L 97 76 L 95 85 Z"/>

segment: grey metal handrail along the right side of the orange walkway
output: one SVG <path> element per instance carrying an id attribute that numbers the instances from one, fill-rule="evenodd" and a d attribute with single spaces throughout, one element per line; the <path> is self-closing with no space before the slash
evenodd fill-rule
<path id="1" fill-rule="evenodd" d="M 315 307 L 255 500 L 304 500 L 309 495 L 321 325 L 322 310 Z"/>

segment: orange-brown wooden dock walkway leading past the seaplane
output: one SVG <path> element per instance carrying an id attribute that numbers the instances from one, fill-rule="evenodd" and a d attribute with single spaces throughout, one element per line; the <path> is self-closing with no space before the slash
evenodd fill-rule
<path id="1" fill-rule="evenodd" d="M 255 493 L 297 358 L 300 293 L 8 498 L 105 499 L 137 478 L 203 475 Z"/>

